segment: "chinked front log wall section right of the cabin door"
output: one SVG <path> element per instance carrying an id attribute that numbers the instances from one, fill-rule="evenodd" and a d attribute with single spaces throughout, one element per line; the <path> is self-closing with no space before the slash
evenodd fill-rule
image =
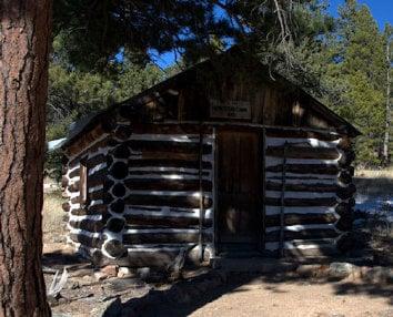
<path id="1" fill-rule="evenodd" d="M 333 132 L 266 129 L 264 149 L 265 250 L 276 255 L 282 245 L 289 256 L 334 253 L 352 226 L 351 141 Z"/>

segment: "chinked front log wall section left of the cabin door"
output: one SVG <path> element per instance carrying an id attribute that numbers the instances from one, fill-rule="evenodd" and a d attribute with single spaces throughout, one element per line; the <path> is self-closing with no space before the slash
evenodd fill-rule
<path id="1" fill-rule="evenodd" d="M 128 258 L 131 266 L 161 266 L 184 249 L 195 255 L 191 250 L 200 242 L 203 257 L 212 255 L 214 134 L 203 127 L 200 143 L 200 129 L 118 125 L 104 184 L 110 213 L 102 245 L 107 257 Z"/>

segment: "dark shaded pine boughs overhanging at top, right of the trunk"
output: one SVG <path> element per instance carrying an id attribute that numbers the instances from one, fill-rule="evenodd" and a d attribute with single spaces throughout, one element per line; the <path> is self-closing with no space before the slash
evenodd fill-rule
<path id="1" fill-rule="evenodd" d="M 215 14 L 215 2 L 59 0 L 54 34 L 63 48 L 62 59 L 81 70 L 108 67 L 120 48 L 134 63 L 149 61 L 151 50 L 175 50 L 185 59 L 199 59 L 211 51 L 212 35 L 223 39 L 239 32 L 224 16 Z"/>

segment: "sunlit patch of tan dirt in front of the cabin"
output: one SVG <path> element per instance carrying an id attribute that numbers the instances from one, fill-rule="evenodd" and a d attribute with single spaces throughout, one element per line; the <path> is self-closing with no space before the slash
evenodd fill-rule
<path id="1" fill-rule="evenodd" d="M 380 289 L 382 294 L 373 295 L 364 287 L 345 282 L 249 283 L 198 308 L 190 316 L 392 317 L 391 290 Z"/>

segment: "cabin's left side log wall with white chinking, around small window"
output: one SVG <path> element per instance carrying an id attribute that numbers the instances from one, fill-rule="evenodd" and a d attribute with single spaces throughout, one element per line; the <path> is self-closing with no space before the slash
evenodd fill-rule
<path id="1" fill-rule="evenodd" d="M 63 175 L 62 185 L 69 201 L 63 204 L 63 209 L 69 213 L 68 241 L 77 250 L 94 262 L 101 258 L 102 231 L 107 207 L 104 205 L 104 177 L 108 173 L 107 153 L 109 135 L 97 135 L 95 140 L 79 141 L 82 147 L 72 147 Z M 88 142 L 89 141 L 89 142 Z M 87 166 L 87 201 L 81 201 L 81 160 Z"/>

